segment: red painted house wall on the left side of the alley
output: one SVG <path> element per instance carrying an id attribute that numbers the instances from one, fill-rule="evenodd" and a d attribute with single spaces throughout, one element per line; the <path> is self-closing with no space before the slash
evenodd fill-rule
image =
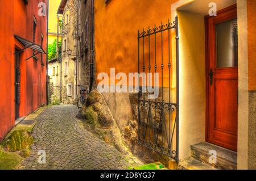
<path id="1" fill-rule="evenodd" d="M 15 47 L 23 49 L 23 45 L 14 38 L 14 35 L 32 41 L 34 16 L 37 20 L 36 44 L 41 44 L 43 35 L 43 49 L 46 50 L 47 16 L 38 15 L 39 2 L 46 0 L 0 0 L 0 140 L 14 127 L 14 51 Z M 46 4 L 47 5 L 47 4 Z M 46 6 L 47 7 L 47 6 Z M 21 95 L 20 116 L 27 116 L 46 103 L 46 55 L 43 55 L 44 66 L 41 65 L 41 56 L 38 61 L 26 58 L 32 55 L 31 49 L 20 54 Z"/>

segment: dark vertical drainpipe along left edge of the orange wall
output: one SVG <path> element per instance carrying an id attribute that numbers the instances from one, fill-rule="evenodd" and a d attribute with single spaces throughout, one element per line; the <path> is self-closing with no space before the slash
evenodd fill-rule
<path id="1" fill-rule="evenodd" d="M 90 87 L 89 92 L 92 91 L 93 82 L 94 82 L 94 0 L 91 0 L 91 16 L 92 16 L 92 24 L 90 30 Z"/>

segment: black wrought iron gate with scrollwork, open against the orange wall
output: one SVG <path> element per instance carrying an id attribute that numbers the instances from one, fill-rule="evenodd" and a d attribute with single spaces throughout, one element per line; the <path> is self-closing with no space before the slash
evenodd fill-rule
<path id="1" fill-rule="evenodd" d="M 178 18 L 176 16 L 173 23 L 170 23 L 169 20 L 167 24 L 161 23 L 159 27 L 155 26 L 152 29 L 148 28 L 146 31 L 144 29 L 142 32 L 138 31 L 138 73 L 159 73 L 161 76 L 159 82 L 162 85 L 158 87 L 160 93 L 156 99 L 146 98 L 148 92 L 144 89 L 142 91 L 142 87 L 140 88 L 138 98 L 138 144 L 174 158 L 177 162 L 179 161 L 178 28 Z M 172 102 L 171 95 L 172 64 L 170 51 L 172 29 L 176 31 L 176 103 Z M 164 39 L 164 33 L 167 33 L 166 39 Z M 160 40 L 158 40 L 158 37 L 160 37 Z M 150 44 L 152 41 L 154 43 Z M 151 51 L 152 47 L 154 47 L 153 52 Z M 168 48 L 167 51 L 164 49 L 166 47 Z M 142 52 L 140 52 L 141 49 L 143 49 Z M 152 55 L 154 58 L 151 58 Z M 165 62 L 168 62 L 168 65 L 164 65 Z M 154 71 L 151 70 L 152 68 Z M 168 78 L 164 78 L 167 75 Z"/>

